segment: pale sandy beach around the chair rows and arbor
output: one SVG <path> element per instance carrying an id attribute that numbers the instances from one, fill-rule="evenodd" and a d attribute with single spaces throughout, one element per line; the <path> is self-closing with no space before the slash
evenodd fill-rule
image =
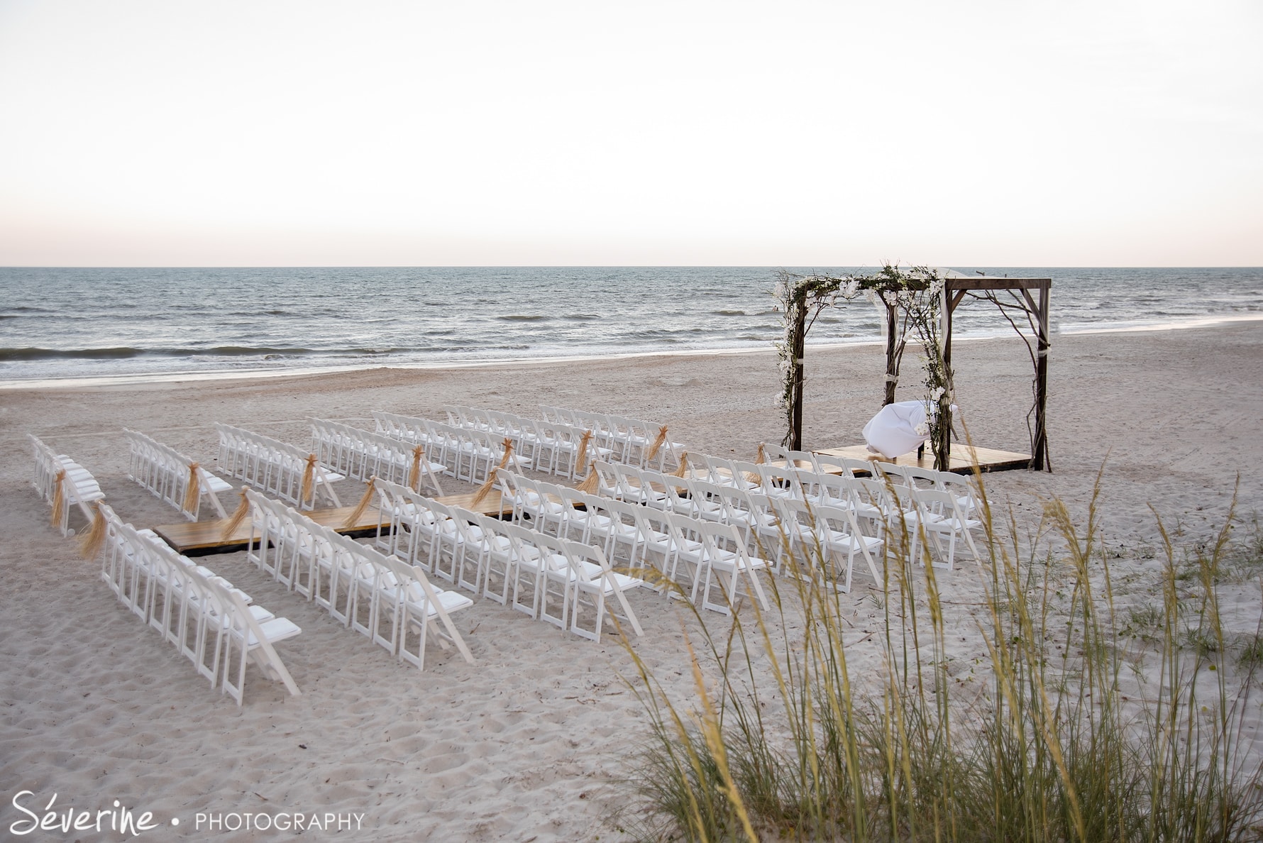
<path id="1" fill-rule="evenodd" d="M 974 441 L 1028 450 L 1026 348 L 961 341 L 954 364 Z M 863 441 L 882 369 L 875 346 L 808 354 L 808 447 Z M 909 353 L 901 397 L 916 397 L 918 379 Z M 373 409 L 442 418 L 442 404 L 462 403 L 538 416 L 549 403 L 661 421 L 691 451 L 753 459 L 759 441 L 781 440 L 778 391 L 772 351 L 0 391 L 0 835 L 20 819 L 14 794 L 32 791 L 34 810 L 56 792 L 54 810 L 117 799 L 182 820 L 154 839 L 201 839 L 210 832 L 196 827 L 200 813 L 251 811 L 356 814 L 350 835 L 374 840 L 619 839 L 626 792 L 616 782 L 645 737 L 620 680 L 630 660 L 613 636 L 594 645 L 480 599 L 457 619 L 476 664 L 432 648 L 418 672 L 260 575 L 244 554 L 202 561 L 302 627 L 278 647 L 302 696 L 254 672 L 237 709 L 48 526 L 30 487 L 27 434 L 88 468 L 125 521 L 150 527 L 179 516 L 128 479 L 124 426 L 211 466 L 216 421 L 306 445 L 308 416 L 371 427 Z M 1042 499 L 1085 512 L 1104 465 L 1103 538 L 1120 581 L 1143 589 L 1159 545 L 1151 506 L 1194 545 L 1218 532 L 1239 476 L 1236 531 L 1249 530 L 1263 502 L 1260 413 L 1263 322 L 1055 337 L 1053 471 L 998 473 L 986 487 L 1033 530 Z M 82 526 L 77 512 L 72 523 Z M 981 588 L 976 567 L 959 564 L 941 583 L 964 623 Z M 871 586 L 858 569 L 845 598 L 858 638 L 879 616 Z M 681 627 L 692 621 L 648 590 L 630 599 L 645 629 L 637 652 L 668 690 L 687 693 Z M 1258 585 L 1233 585 L 1224 600 L 1226 622 L 1252 629 Z M 962 637 L 962 664 L 985 653 L 976 634 Z M 878 657 L 875 643 L 858 646 L 853 669 L 863 674 Z"/>

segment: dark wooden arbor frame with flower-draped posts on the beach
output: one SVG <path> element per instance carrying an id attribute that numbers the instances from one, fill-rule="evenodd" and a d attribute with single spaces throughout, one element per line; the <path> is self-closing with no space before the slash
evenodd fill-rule
<path id="1" fill-rule="evenodd" d="M 841 279 L 811 277 L 801 279 L 793 289 L 788 289 L 787 287 L 781 288 L 787 291 L 786 294 L 783 294 L 786 305 L 784 315 L 787 320 L 787 341 L 784 346 L 779 346 L 783 349 L 782 356 L 786 359 L 786 364 L 788 365 L 786 396 L 783 398 L 786 415 L 789 421 L 789 431 L 786 436 L 786 444 L 793 450 L 802 450 L 802 402 L 806 380 L 803 364 L 806 355 L 806 339 L 807 331 L 815 322 L 816 316 L 820 315 L 820 311 L 825 307 L 835 306 L 839 298 L 849 301 L 860 291 L 878 291 L 880 301 L 885 306 L 887 322 L 884 406 L 894 402 L 894 388 L 899 379 L 899 364 L 907 343 L 908 326 L 907 318 L 904 318 L 901 330 L 901 308 L 904 310 L 904 316 L 907 316 L 908 302 L 906 300 L 901 302 L 898 296 L 882 294 L 882 291 L 889 293 L 890 291 L 902 287 L 904 291 L 923 293 L 926 291 L 933 291 L 933 287 L 941 284 L 941 289 L 937 291 L 940 297 L 937 310 L 938 317 L 942 322 L 940 327 L 942 343 L 942 369 L 946 373 L 949 385 L 954 375 L 954 370 L 951 368 L 952 316 L 966 297 L 989 301 L 999 308 L 1004 318 L 1027 345 L 1027 353 L 1031 356 L 1031 363 L 1034 369 L 1034 378 L 1032 380 L 1033 404 L 1031 411 L 1027 413 L 1027 428 L 1031 434 L 1029 468 L 1038 471 L 1045 469 L 1051 470 L 1045 415 L 1048 397 L 1048 298 L 1052 288 L 1052 279 L 990 277 L 966 278 L 956 276 L 955 273 L 952 273 L 954 277 L 941 279 L 937 272 L 918 269 L 916 273 L 921 277 L 909 277 L 899 272 L 897 268 L 887 267 L 883 273 L 879 273 L 878 277 L 873 278 Z M 933 281 L 925 281 L 926 277 L 930 277 Z M 893 287 L 889 283 L 890 279 L 895 279 L 897 282 Z M 782 273 L 781 283 L 789 283 L 789 276 L 787 273 Z M 931 284 L 933 284 L 933 287 Z M 1022 322 L 1024 322 L 1024 326 L 1028 329 L 1028 334 L 1023 334 L 1021 326 Z M 1032 340 L 1034 341 L 1034 345 L 1032 345 Z M 949 389 L 949 392 L 951 391 Z M 936 442 L 936 454 L 949 454 L 950 432 L 950 420 L 949 423 L 938 426 L 936 434 L 940 439 Z"/>

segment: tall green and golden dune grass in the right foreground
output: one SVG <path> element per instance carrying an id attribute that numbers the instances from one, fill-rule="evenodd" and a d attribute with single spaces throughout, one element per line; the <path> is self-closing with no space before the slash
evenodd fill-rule
<path id="1" fill-rule="evenodd" d="M 815 576 L 818 552 L 774 578 L 769 613 L 693 610 L 692 694 L 673 699 L 629 647 L 652 738 L 621 824 L 687 840 L 1263 839 L 1259 648 L 1230 647 L 1219 614 L 1231 516 L 1187 557 L 1158 521 L 1161 604 L 1132 608 L 1114 603 L 1096 494 L 1082 523 L 1050 503 L 1041 541 L 993 516 L 984 489 L 984 561 L 950 574 L 984 579 L 971 628 L 952 628 L 985 642 L 984 693 L 951 675 L 938 571 L 907 528 L 875 595 L 879 675 L 847 669 L 858 595 Z"/>

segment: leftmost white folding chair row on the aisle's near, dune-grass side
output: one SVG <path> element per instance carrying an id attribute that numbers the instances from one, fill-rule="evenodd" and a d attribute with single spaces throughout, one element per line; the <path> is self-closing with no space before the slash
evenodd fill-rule
<path id="1" fill-rule="evenodd" d="M 101 579 L 124 605 L 188 658 L 211 688 L 245 699 L 245 667 L 254 661 L 294 696 L 298 685 L 273 645 L 302 629 L 278 618 L 213 571 L 181 556 L 148 530 L 124 523 L 101 504 L 106 543 Z"/>

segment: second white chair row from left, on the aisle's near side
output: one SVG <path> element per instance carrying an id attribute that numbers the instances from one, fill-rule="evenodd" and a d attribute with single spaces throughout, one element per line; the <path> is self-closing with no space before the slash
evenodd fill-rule
<path id="1" fill-rule="evenodd" d="M 451 613 L 472 600 L 431 585 L 424 573 L 337 531 L 316 523 L 292 507 L 246 492 L 251 507 L 249 557 L 308 600 L 328 610 L 400 661 L 424 669 L 426 643 L 433 624 L 440 643 L 456 645 L 474 664 Z M 258 540 L 258 543 L 256 541 Z M 409 636 L 416 633 L 416 650 Z"/>

